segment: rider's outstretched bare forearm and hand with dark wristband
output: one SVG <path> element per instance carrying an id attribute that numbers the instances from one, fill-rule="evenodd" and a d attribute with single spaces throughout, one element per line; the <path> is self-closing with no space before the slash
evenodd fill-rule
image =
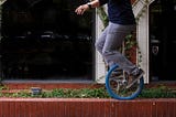
<path id="1" fill-rule="evenodd" d="M 75 10 L 75 12 L 76 12 L 77 14 L 84 14 L 85 11 L 87 11 L 87 10 L 89 10 L 89 9 L 92 9 L 92 8 L 98 8 L 99 6 L 100 6 L 99 0 L 94 0 L 94 1 L 90 1 L 90 2 L 88 2 L 88 3 L 86 3 L 86 4 L 79 6 L 79 7 Z"/>

